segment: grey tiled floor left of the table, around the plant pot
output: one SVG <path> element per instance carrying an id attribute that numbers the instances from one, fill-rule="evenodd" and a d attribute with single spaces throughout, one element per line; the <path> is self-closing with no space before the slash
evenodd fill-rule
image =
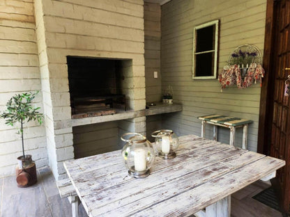
<path id="1" fill-rule="evenodd" d="M 0 179 L 1 217 L 70 217 L 71 205 L 61 199 L 56 181 L 49 167 L 38 169 L 38 183 L 28 188 L 18 188 L 15 177 Z M 79 216 L 86 217 L 82 204 Z"/>

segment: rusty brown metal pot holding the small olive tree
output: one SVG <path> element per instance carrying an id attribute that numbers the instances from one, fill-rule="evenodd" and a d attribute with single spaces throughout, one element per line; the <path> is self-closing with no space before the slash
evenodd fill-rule
<path id="1" fill-rule="evenodd" d="M 32 161 L 31 155 L 17 157 L 16 182 L 20 188 L 26 188 L 37 182 L 36 163 Z"/>

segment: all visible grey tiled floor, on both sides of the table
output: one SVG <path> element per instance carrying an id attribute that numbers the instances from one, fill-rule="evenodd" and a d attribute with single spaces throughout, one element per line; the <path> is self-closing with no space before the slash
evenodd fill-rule
<path id="1" fill-rule="evenodd" d="M 48 167 L 38 170 L 38 183 L 29 188 L 17 188 L 15 177 L 0 179 L 0 217 L 70 217 L 68 199 L 61 199 L 56 182 Z M 231 197 L 231 216 L 234 217 L 282 217 L 280 212 L 252 199 L 268 185 L 255 182 Z M 79 216 L 85 217 L 82 204 Z M 114 216 L 110 216 L 114 217 Z M 174 215 L 172 215 L 174 217 Z"/>

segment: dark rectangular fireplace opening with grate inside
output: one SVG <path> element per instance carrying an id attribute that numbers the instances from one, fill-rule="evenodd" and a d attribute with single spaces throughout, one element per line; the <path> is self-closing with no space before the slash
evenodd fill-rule
<path id="1" fill-rule="evenodd" d="M 132 60 L 67 56 L 72 118 L 126 110 L 125 78 Z"/>

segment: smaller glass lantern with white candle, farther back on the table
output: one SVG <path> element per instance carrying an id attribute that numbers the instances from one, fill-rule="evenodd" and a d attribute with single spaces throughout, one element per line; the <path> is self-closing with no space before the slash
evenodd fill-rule
<path id="1" fill-rule="evenodd" d="M 174 151 L 178 149 L 179 140 L 178 136 L 174 134 L 174 131 L 171 129 L 160 129 L 154 131 L 151 136 L 155 137 L 155 147 L 160 156 L 164 159 L 173 159 L 176 157 Z"/>

